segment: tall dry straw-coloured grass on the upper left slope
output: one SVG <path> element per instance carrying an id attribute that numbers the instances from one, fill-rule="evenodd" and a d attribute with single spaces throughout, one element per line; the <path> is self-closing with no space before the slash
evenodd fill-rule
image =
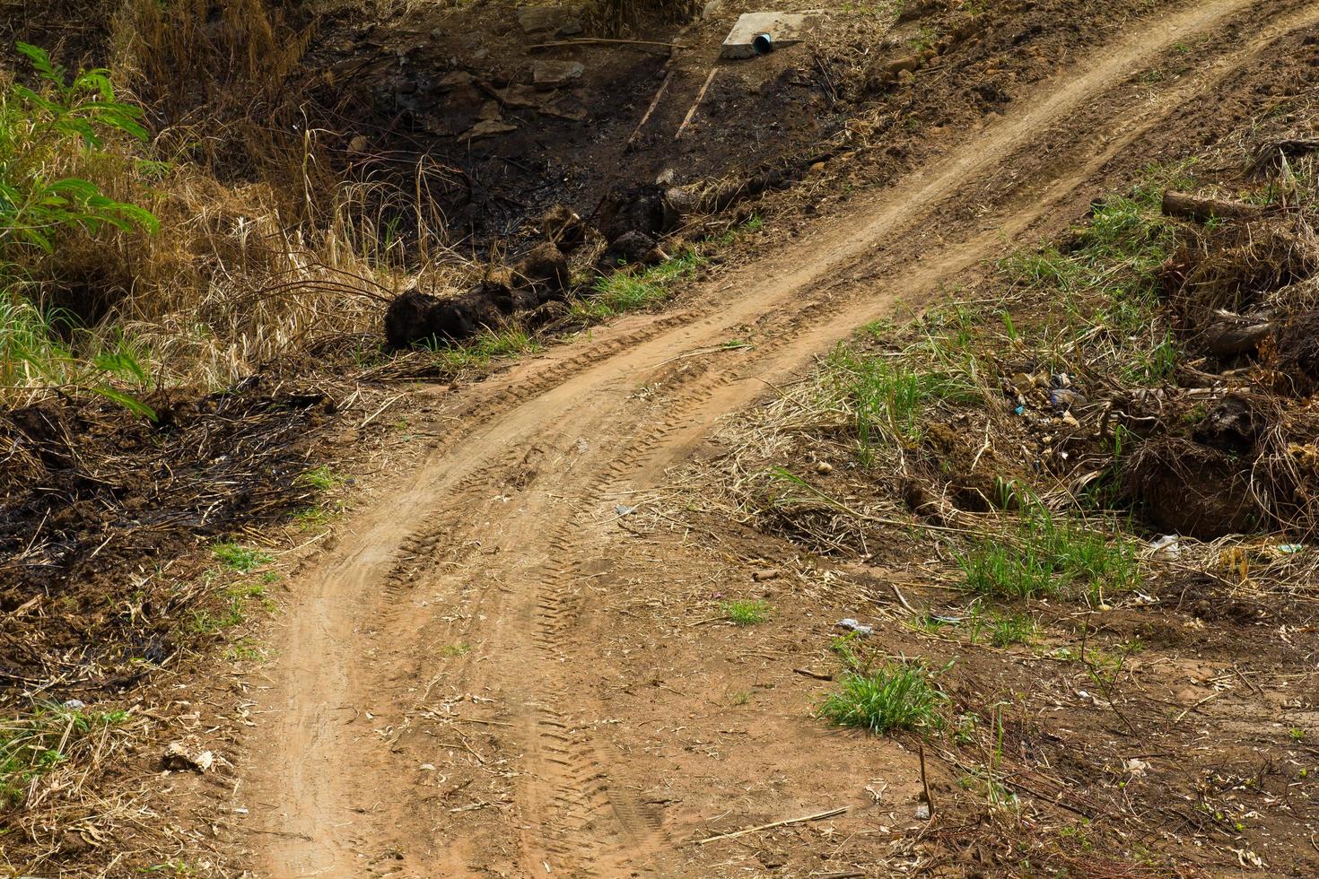
<path id="1" fill-rule="evenodd" d="M 146 373 L 131 393 L 371 351 L 392 294 L 418 275 L 443 290 L 472 274 L 425 198 L 434 169 L 419 166 L 410 191 L 355 182 L 290 116 L 284 86 L 307 34 L 260 0 L 219 18 L 199 1 L 119 11 L 115 75 L 150 107 L 154 140 L 111 140 L 94 156 L 70 145 L 47 173 L 150 210 L 160 231 L 69 228 L 54 253 L 11 254 L 11 295 L 47 324 L 51 308 L 75 323 L 47 368 L 11 376 L 0 394 L 71 390 L 87 372 L 78 360 L 125 345 Z"/>

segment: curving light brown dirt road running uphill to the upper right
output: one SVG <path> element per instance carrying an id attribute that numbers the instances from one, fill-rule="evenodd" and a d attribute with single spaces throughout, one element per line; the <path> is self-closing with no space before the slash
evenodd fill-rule
<path id="1" fill-rule="evenodd" d="M 662 600 L 691 573 L 667 559 L 620 571 L 616 505 L 853 327 L 1074 215 L 1059 208 L 1088 200 L 1125 148 L 1315 21 L 1304 1 L 1215 0 L 1134 22 L 938 162 L 682 311 L 621 320 L 477 389 L 423 465 L 291 584 L 235 793 L 255 804 L 257 874 L 721 875 L 714 853 L 685 846 L 715 816 L 648 795 L 687 771 L 690 742 L 642 734 L 628 712 L 645 696 L 620 687 L 615 701 L 600 685 L 620 662 L 601 592 Z M 1212 69 L 1128 87 L 1204 37 L 1221 46 Z M 685 356 L 732 339 L 754 348 Z M 427 759 L 441 751 L 460 771 Z M 780 771 L 809 775 L 818 759 Z M 911 762 L 882 742 L 868 759 L 894 776 Z M 727 801 L 736 809 L 737 792 Z"/>

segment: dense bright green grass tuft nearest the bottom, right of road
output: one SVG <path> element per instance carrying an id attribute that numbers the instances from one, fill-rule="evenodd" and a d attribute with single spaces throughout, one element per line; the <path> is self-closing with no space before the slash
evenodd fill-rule
<path id="1" fill-rule="evenodd" d="M 878 735 L 943 727 L 940 709 L 948 697 L 921 666 L 885 663 L 868 673 L 849 672 L 840 683 L 842 691 L 830 693 L 816 712 L 831 723 Z"/>

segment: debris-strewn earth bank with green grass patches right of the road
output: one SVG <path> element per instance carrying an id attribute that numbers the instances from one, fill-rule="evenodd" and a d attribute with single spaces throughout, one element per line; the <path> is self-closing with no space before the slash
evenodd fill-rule
<path id="1" fill-rule="evenodd" d="M 1187 101 L 1075 228 L 867 328 L 692 474 L 696 530 L 758 532 L 721 551 L 847 572 L 780 633 L 874 634 L 805 672 L 938 681 L 904 739 L 936 754 L 943 817 L 898 849 L 929 870 L 1315 870 L 1316 51 Z"/>

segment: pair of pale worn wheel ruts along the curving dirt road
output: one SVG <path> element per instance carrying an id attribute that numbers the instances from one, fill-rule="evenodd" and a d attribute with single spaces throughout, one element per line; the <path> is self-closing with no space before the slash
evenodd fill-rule
<path id="1" fill-rule="evenodd" d="M 289 644 L 307 659 L 322 651 L 331 660 L 353 666 L 355 651 L 360 651 L 355 634 L 360 614 L 330 606 L 346 602 L 369 608 L 373 631 L 402 639 L 400 650 L 417 654 L 422 644 L 408 642 L 417 639 L 429 614 L 414 610 L 406 596 L 418 582 L 451 581 L 460 592 L 471 581 L 458 563 L 471 559 L 471 540 L 489 536 L 481 532 L 480 522 L 472 521 L 474 510 L 492 493 L 509 490 L 514 499 L 500 518 L 497 538 L 492 538 L 499 553 L 489 556 L 479 572 L 492 582 L 508 582 L 509 594 L 488 594 L 487 586 L 467 600 L 474 613 L 508 610 L 492 643 L 499 662 L 470 660 L 462 668 L 463 680 L 474 688 L 479 684 L 501 695 L 512 718 L 510 752 L 520 749 L 522 754 L 517 780 L 521 818 L 509 820 L 509 837 L 517 841 L 517 862 L 526 875 L 545 875 L 545 870 L 558 875 L 625 875 L 665 847 L 673 828 L 666 826 L 662 810 L 629 793 L 613 770 L 609 749 L 601 745 L 594 725 L 583 721 L 599 717 L 603 709 L 590 689 L 583 692 L 583 684 L 591 680 L 595 626 L 584 584 L 596 576 L 583 559 L 600 525 L 591 511 L 599 509 L 607 492 L 662 469 L 715 415 L 760 393 L 751 378 L 791 369 L 810 352 L 888 308 L 894 297 L 892 285 L 867 290 L 864 277 L 885 265 L 901 265 L 896 261 L 902 254 L 893 246 L 876 254 L 872 241 L 885 236 L 900 240 L 904 232 L 944 217 L 944 231 L 952 224 L 960 232 L 935 249 L 938 260 L 909 271 L 905 287 L 923 290 L 969 268 L 983 254 L 1001 248 L 1001 240 L 997 229 L 987 232 L 983 221 L 967 219 L 973 216 L 967 211 L 956 219 L 966 206 L 959 192 L 980 183 L 992 186 L 1000 163 L 1029 156 L 1031 137 L 1046 128 L 1060 127 L 1076 115 L 1087 124 L 1107 124 L 1104 137 L 1071 136 L 1068 150 L 1080 156 L 1079 162 L 1055 161 L 1054 167 L 1041 163 L 1014 190 L 996 194 L 1000 228 L 1006 237 L 1025 231 L 1194 90 L 1173 90 L 1153 108 L 1117 113 L 1095 109 L 1087 101 L 1120 88 L 1140 61 L 1177 40 L 1210 32 L 1233 12 L 1262 13 L 1264 8 L 1250 0 L 1194 4 L 1170 16 L 1154 36 L 1129 36 L 1096 53 L 1091 66 L 1076 76 L 1042 86 L 1045 100 L 933 166 L 926 177 L 885 194 L 863 223 L 836 228 L 826 246 L 818 240 L 805 241 L 802 249 L 814 250 L 809 264 L 794 265 L 793 256 L 772 257 L 766 270 L 758 273 L 769 281 L 740 297 L 719 302 L 716 294 L 692 310 L 641 328 L 601 333 L 600 343 L 584 351 L 565 349 L 513 370 L 442 434 L 441 448 L 414 485 L 390 509 L 368 514 L 364 527 L 322 565 L 324 582 L 313 592 L 307 606 L 311 622 L 298 619 Z M 1241 62 L 1281 30 L 1319 20 L 1314 8 L 1291 8 L 1283 4 L 1270 9 L 1270 24 L 1231 58 Z M 1198 87 L 1211 87 L 1228 72 L 1206 76 Z M 1008 216 L 1013 210 L 1020 212 Z M 828 281 L 820 283 L 826 277 Z M 801 298 L 803 289 L 810 289 L 811 295 Z M 757 322 L 761 315 L 769 319 Z M 707 360 L 685 364 L 669 374 L 666 409 L 658 420 L 648 420 L 629 403 L 630 389 L 642 377 L 662 376 L 663 365 L 675 356 L 718 344 L 731 329 L 751 323 L 760 323 L 762 339 L 736 368 Z M 572 435 L 591 436 L 591 451 L 562 469 L 546 465 L 555 449 L 571 445 Z M 422 525 L 406 525 L 417 521 Z M 455 563 L 452 571 L 437 572 L 450 561 Z M 373 589 L 379 594 L 372 594 Z M 322 718 L 306 705 L 299 706 L 297 695 L 299 689 L 328 689 L 350 698 L 379 687 L 384 672 L 364 669 L 360 663 L 351 676 L 336 676 L 334 669 L 305 672 L 293 662 L 288 666 L 280 687 L 294 710 L 274 725 L 277 741 L 281 735 L 289 741 L 277 754 L 284 754 L 285 760 L 335 760 L 351 754 L 359 743 L 343 733 L 322 734 Z M 388 754 L 363 755 L 357 767 L 364 781 L 357 783 L 317 781 L 305 772 L 295 774 L 291 781 L 266 780 L 262 789 L 272 791 L 272 799 L 307 807 L 309 816 L 290 828 L 303 829 L 301 836 L 278 837 L 273 845 L 261 841 L 270 845 L 268 875 L 301 875 L 307 865 L 327 858 L 342 866 L 355 847 L 360 854 L 360 843 L 346 843 L 323 828 L 339 820 L 342 804 L 369 791 L 373 779 L 388 776 L 390 759 Z M 624 767 L 624 778 L 627 772 Z M 417 837 L 429 830 L 408 813 L 406 804 L 377 821 L 415 825 Z M 372 832 L 357 829 L 355 837 L 369 839 Z"/>

